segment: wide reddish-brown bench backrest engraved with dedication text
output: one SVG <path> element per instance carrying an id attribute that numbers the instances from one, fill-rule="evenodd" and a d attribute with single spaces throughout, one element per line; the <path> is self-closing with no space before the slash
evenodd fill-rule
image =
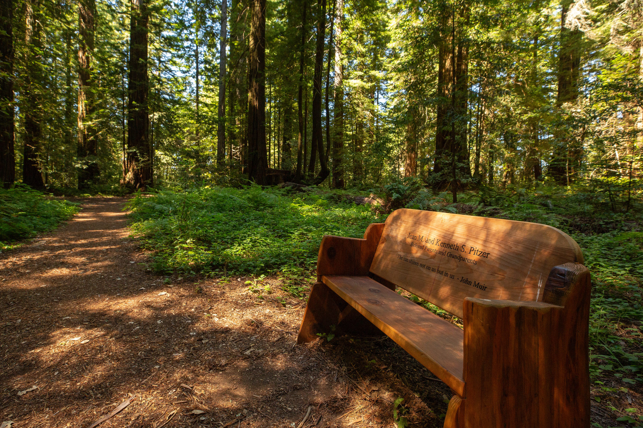
<path id="1" fill-rule="evenodd" d="M 539 301 L 554 266 L 583 263 L 547 225 L 400 209 L 388 216 L 370 271 L 462 318 L 466 297 Z"/>

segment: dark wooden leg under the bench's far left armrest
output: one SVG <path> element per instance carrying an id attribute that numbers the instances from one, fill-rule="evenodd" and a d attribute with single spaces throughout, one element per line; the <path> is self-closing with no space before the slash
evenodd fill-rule
<path id="1" fill-rule="evenodd" d="M 338 325 L 341 313 L 338 300 L 344 302 L 323 282 L 313 284 L 297 343 L 312 342 L 319 338 L 318 333 L 329 333 L 331 326 Z"/>

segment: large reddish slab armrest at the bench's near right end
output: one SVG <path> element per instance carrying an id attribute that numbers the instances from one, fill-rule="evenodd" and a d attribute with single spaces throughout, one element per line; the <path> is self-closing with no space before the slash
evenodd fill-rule
<path id="1" fill-rule="evenodd" d="M 563 264 L 548 286 L 556 304 L 464 300 L 467 426 L 589 427 L 590 275 Z"/>

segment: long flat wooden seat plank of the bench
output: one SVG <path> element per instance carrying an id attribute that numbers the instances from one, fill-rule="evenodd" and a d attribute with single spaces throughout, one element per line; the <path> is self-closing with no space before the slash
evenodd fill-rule
<path id="1" fill-rule="evenodd" d="M 322 281 L 424 367 L 464 395 L 464 332 L 369 277 L 323 276 Z"/>

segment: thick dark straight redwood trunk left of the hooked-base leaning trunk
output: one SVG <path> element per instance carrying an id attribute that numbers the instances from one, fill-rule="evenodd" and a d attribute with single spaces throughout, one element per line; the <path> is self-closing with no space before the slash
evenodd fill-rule
<path id="1" fill-rule="evenodd" d="M 266 153 L 266 0 L 250 0 L 248 56 L 248 177 L 265 184 Z"/>

